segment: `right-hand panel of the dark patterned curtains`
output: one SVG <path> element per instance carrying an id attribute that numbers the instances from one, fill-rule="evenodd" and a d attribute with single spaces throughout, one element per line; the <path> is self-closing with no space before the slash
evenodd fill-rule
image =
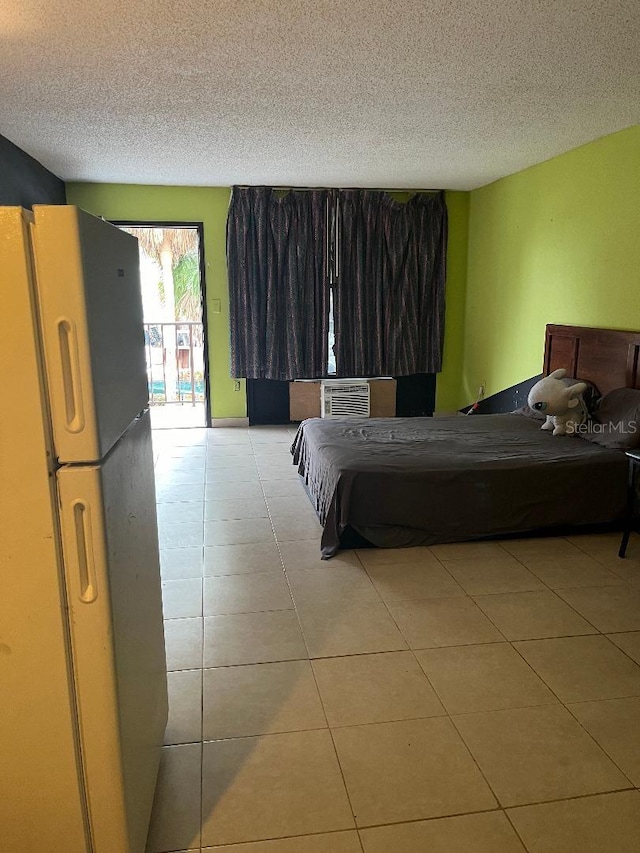
<path id="1" fill-rule="evenodd" d="M 334 282 L 339 376 L 442 369 L 447 208 L 444 193 L 406 204 L 340 190 Z"/>

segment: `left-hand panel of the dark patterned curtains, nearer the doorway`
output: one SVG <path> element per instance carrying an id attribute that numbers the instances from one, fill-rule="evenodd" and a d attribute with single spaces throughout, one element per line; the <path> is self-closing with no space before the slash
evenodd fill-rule
<path id="1" fill-rule="evenodd" d="M 234 187 L 227 218 L 231 375 L 324 376 L 328 190 Z"/>

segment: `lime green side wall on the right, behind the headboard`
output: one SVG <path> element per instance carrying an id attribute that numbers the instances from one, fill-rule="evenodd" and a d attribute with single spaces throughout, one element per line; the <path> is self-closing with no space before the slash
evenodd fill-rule
<path id="1" fill-rule="evenodd" d="M 539 373 L 547 323 L 640 328 L 640 126 L 471 193 L 458 405 Z"/>

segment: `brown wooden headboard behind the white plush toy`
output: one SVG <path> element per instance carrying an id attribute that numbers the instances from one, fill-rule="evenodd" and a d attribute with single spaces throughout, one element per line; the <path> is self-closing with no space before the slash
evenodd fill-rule
<path id="1" fill-rule="evenodd" d="M 601 394 L 614 388 L 640 388 L 640 332 L 547 326 L 545 376 L 559 367 L 567 376 L 593 382 Z"/>

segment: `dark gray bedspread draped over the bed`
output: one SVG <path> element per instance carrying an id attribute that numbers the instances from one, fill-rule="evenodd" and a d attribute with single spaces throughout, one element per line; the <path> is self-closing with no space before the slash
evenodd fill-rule
<path id="1" fill-rule="evenodd" d="M 303 421 L 291 448 L 322 556 L 349 525 L 380 547 L 622 517 L 626 458 L 515 414 Z"/>

